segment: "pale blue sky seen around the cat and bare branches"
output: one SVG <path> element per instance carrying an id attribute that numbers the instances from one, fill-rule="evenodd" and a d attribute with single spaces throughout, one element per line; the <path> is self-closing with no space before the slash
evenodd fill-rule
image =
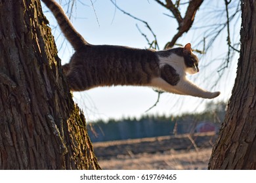
<path id="1" fill-rule="evenodd" d="M 66 1 L 62 0 L 61 3 L 64 9 L 67 7 Z M 136 27 L 137 24 L 143 33 L 152 40 L 152 35 L 150 35 L 144 24 L 117 10 L 110 1 L 92 1 L 93 6 L 89 0 L 83 2 L 84 5 L 79 3 L 79 1 L 75 3 L 71 20 L 75 29 L 88 42 L 91 44 L 116 44 L 148 48 L 146 40 Z M 171 15 L 171 13 L 153 0 L 116 0 L 116 3 L 123 10 L 133 14 L 133 16 L 148 22 L 157 35 L 160 49 L 163 49 L 165 43 L 170 41 L 177 32 L 176 20 L 165 15 Z M 62 63 L 67 63 L 74 50 L 60 35 L 60 30 L 56 27 L 53 15 L 44 5 L 43 9 L 53 29 L 53 35 L 59 50 L 58 56 L 62 59 Z M 184 45 L 187 42 L 191 42 L 192 48 L 202 50 L 203 44 L 200 41 L 202 37 L 206 37 L 209 31 L 207 31 L 207 28 L 198 29 L 198 27 L 207 27 L 207 25 L 224 22 L 226 14 L 221 9 L 224 9 L 224 1 L 204 2 L 196 15 L 192 29 L 184 34 L 177 43 Z M 185 8 L 181 8 L 182 13 L 184 13 L 184 10 Z M 239 42 L 239 16 L 237 19 L 238 22 L 236 24 L 230 24 L 232 42 Z M 219 78 L 220 72 L 217 72 L 223 67 L 221 64 L 226 57 L 226 36 L 226 29 L 224 29 L 219 34 L 219 37 L 217 37 L 217 40 L 213 42 L 211 48 L 207 50 L 206 54 L 197 54 L 200 58 L 200 73 L 189 76 L 190 80 L 193 80 L 202 88 L 221 92 L 219 97 L 212 100 L 214 102 L 228 100 L 236 76 L 238 54 L 230 61 L 229 67 L 224 70 L 222 78 Z M 209 42 L 207 39 L 206 41 Z M 217 84 L 215 84 L 216 81 Z M 158 105 L 145 113 L 145 110 L 154 105 L 157 97 L 157 93 L 151 88 L 131 86 L 95 88 L 85 92 L 74 92 L 74 100 L 84 110 L 88 122 L 93 122 L 100 118 L 104 120 L 128 116 L 139 118 L 143 114 L 177 115 L 182 112 L 200 112 L 204 109 L 205 102 L 210 101 L 208 99 L 163 93 Z"/>

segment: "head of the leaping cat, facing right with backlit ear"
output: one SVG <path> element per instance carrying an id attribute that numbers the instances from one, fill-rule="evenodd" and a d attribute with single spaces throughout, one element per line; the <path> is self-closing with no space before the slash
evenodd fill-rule
<path id="1" fill-rule="evenodd" d="M 199 72 L 198 57 L 192 52 L 191 44 L 188 43 L 182 48 L 182 56 L 186 65 L 185 72 L 194 75 Z"/>

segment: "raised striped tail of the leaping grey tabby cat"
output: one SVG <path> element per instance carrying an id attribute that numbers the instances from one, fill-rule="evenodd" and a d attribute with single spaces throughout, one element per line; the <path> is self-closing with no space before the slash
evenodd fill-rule
<path id="1" fill-rule="evenodd" d="M 53 12 L 54 17 L 56 18 L 60 29 L 64 33 L 66 39 L 74 47 L 75 50 L 79 50 L 85 45 L 89 45 L 85 39 L 75 30 L 72 23 L 66 16 L 62 7 L 56 3 L 54 0 L 42 0 L 43 3 Z"/>

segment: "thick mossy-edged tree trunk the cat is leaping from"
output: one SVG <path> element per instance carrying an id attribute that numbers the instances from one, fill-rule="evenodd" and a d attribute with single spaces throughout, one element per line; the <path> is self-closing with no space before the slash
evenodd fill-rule
<path id="1" fill-rule="evenodd" d="M 39 0 L 0 0 L 0 169 L 100 169 Z"/>

